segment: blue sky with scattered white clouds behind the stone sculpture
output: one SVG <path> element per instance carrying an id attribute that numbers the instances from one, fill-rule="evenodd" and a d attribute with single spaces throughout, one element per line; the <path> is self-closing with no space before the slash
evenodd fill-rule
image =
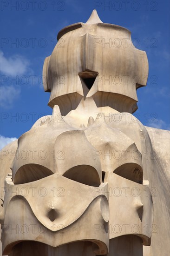
<path id="1" fill-rule="evenodd" d="M 146 126 L 170 128 L 170 1 L 4 1 L 1 10 L 1 148 L 51 115 L 42 67 L 63 27 L 100 19 L 128 28 L 133 44 L 146 51 L 148 84 L 137 90 L 136 117 Z M 76 47 L 76 46 L 75 46 Z"/>

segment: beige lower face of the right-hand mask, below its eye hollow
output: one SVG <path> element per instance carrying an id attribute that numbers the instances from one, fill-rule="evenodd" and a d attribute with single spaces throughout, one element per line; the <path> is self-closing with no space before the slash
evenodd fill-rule
<path id="1" fill-rule="evenodd" d="M 149 187 L 110 172 L 106 173 L 105 182 L 112 188 L 109 191 L 112 213 L 109 220 L 110 239 L 135 234 L 142 238 L 144 245 L 150 245 L 151 230 L 146 227 L 153 224 L 153 203 Z"/>

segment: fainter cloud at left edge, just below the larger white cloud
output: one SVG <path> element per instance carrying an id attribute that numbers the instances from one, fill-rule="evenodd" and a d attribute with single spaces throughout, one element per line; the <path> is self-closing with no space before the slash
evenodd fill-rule
<path id="1" fill-rule="evenodd" d="M 12 108 L 13 102 L 20 96 L 20 87 L 1 86 L 0 87 L 0 106 L 3 108 Z"/>

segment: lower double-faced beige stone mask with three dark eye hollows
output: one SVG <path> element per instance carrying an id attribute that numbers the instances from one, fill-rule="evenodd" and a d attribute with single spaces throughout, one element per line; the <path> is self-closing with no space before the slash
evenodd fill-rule
<path id="1" fill-rule="evenodd" d="M 152 225 L 153 206 L 150 189 L 142 184 L 142 157 L 135 142 L 121 131 L 122 125 L 113 128 L 90 118 L 87 128 L 76 129 L 58 121 L 46 120 L 18 140 L 13 175 L 6 178 L 4 190 L 4 253 L 19 253 L 20 241 L 37 241 L 38 248 L 40 243 L 58 248 L 91 241 L 94 255 L 105 255 L 109 240 L 134 233 L 149 245 L 151 234 L 144 227 Z M 47 157 L 20 154 L 35 148 L 44 148 Z"/>

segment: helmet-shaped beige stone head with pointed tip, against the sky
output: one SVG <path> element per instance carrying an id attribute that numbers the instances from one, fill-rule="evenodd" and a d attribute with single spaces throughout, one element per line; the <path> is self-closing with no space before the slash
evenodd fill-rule
<path id="1" fill-rule="evenodd" d="M 90 21 L 65 27 L 58 40 L 43 67 L 50 107 L 57 104 L 66 115 L 92 97 L 98 107 L 137 109 L 136 89 L 146 85 L 148 60 L 133 46 L 128 29 L 103 23 L 94 10 Z M 92 77 L 96 80 L 89 90 L 84 78 Z"/>

